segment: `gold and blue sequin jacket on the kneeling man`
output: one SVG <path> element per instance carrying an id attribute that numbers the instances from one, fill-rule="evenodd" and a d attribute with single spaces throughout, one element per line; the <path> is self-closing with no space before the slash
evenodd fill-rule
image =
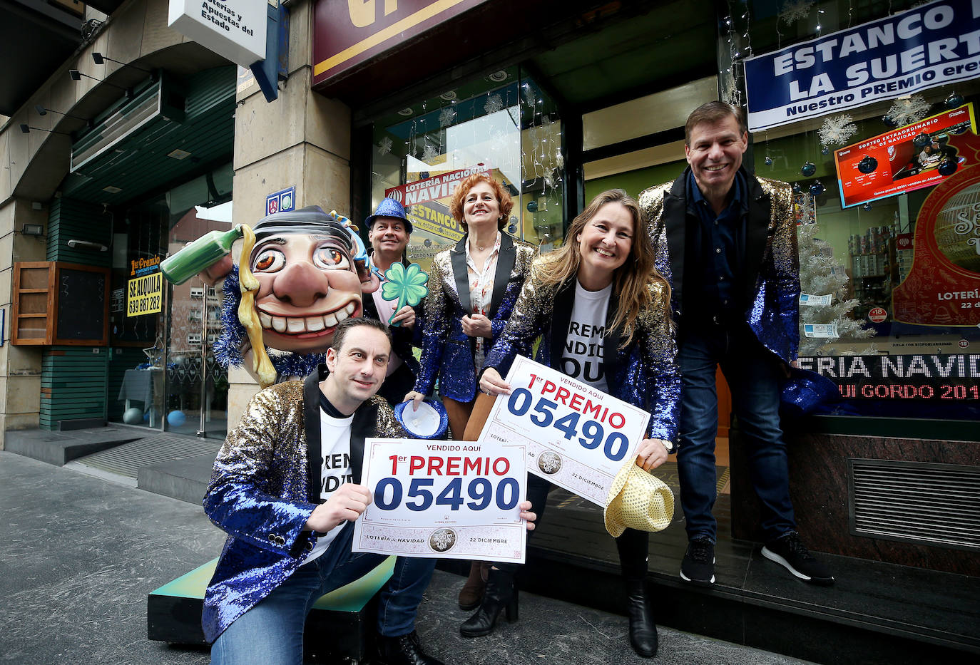
<path id="1" fill-rule="evenodd" d="M 204 511 L 228 534 L 204 596 L 209 643 L 303 563 L 317 535 L 303 531 L 320 502 L 320 365 L 305 381 L 259 392 L 228 433 L 204 497 Z M 351 471 L 361 482 L 364 440 L 407 437 L 391 408 L 373 397 L 351 423 Z"/>

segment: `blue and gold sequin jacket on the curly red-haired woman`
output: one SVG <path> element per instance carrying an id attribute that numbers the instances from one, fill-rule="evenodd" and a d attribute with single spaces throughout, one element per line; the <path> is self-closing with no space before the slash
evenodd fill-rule
<path id="1" fill-rule="evenodd" d="M 537 249 L 531 245 L 501 234 L 493 297 L 487 312 L 493 337 L 485 349 L 496 344 L 503 332 L 535 255 Z M 470 402 L 476 396 L 476 367 L 473 366 L 476 341 L 463 332 L 463 317 L 471 313 L 466 236 L 456 247 L 443 250 L 432 260 L 428 288 L 416 391 L 431 395 L 438 376 L 439 390 L 444 397 Z"/>

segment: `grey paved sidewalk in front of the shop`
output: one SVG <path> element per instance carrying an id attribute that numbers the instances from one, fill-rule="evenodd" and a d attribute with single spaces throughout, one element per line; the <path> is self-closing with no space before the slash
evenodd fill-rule
<path id="1" fill-rule="evenodd" d="M 214 558 L 223 535 L 200 507 L 0 451 L 0 662 L 18 665 L 191 665 L 203 649 L 146 639 L 146 597 Z M 637 657 L 626 620 L 521 595 L 521 619 L 465 640 L 454 598 L 461 578 L 436 572 L 418 631 L 455 665 L 803 663 L 661 628 L 655 661 Z"/>

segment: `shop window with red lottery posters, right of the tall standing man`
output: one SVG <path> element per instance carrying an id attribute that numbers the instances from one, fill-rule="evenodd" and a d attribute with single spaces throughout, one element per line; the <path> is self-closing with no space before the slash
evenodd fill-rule
<path id="1" fill-rule="evenodd" d="M 747 16 L 730 24 L 733 61 L 889 14 L 880 3 L 818 2 L 781 24 L 755 4 Z M 733 71 L 719 71 L 721 88 L 745 103 Z M 794 188 L 800 364 L 837 384 L 831 412 L 980 417 L 978 105 L 974 76 L 753 134 L 747 164 Z"/>

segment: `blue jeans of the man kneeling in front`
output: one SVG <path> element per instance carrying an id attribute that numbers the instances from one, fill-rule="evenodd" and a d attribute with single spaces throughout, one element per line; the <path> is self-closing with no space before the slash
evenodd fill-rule
<path id="1" fill-rule="evenodd" d="M 300 566 L 271 594 L 235 619 L 211 646 L 212 665 L 303 665 L 303 627 L 319 596 L 364 577 L 384 554 L 352 552 L 348 524 L 319 558 Z M 416 611 L 435 559 L 399 557 L 381 591 L 377 629 L 397 637 L 415 630 Z"/>

